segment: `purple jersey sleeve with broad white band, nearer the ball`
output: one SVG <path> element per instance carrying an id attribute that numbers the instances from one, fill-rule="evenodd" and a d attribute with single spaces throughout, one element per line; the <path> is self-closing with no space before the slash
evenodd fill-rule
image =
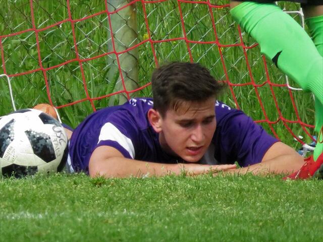
<path id="1" fill-rule="evenodd" d="M 139 135 L 140 132 L 132 116 L 126 112 L 116 111 L 102 126 L 96 147 L 111 146 L 120 151 L 124 157 L 134 159 Z"/>

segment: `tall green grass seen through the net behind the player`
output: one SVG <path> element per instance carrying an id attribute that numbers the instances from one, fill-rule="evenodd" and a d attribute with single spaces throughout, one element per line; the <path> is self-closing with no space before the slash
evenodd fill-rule
<path id="1" fill-rule="evenodd" d="M 62 121 L 75 128 L 86 115 L 93 112 L 90 101 L 86 100 L 87 93 L 84 89 L 85 84 L 87 86 L 88 96 L 90 98 L 98 98 L 93 100 L 93 105 L 96 109 L 111 105 L 110 99 L 112 97 L 100 97 L 116 92 L 116 87 L 120 85 L 118 72 L 115 75 L 109 75 L 111 70 L 118 67 L 115 61 L 115 54 L 104 55 L 111 51 L 109 47 L 111 30 L 106 13 L 80 20 L 105 11 L 104 1 L 70 1 L 71 17 L 73 20 L 76 20 L 74 22 L 74 28 L 79 59 L 88 59 L 103 54 L 101 57 L 81 62 L 84 77 L 82 77 L 80 63 L 75 61 L 77 56 L 73 40 L 73 29 L 71 22 L 66 21 L 69 18 L 67 2 L 63 0 L 40 0 L 33 1 L 32 3 L 35 28 L 39 30 L 37 32 L 38 36 L 36 36 L 35 31 L 31 30 L 33 24 L 29 0 L 0 0 L 3 9 L 0 13 L 0 40 L 3 50 L 3 58 L 0 60 L 0 74 L 5 72 L 4 66 L 8 75 L 17 74 L 17 76 L 11 78 L 17 109 L 32 107 L 37 103 L 49 102 L 44 76 L 48 80 L 48 94 L 53 105 L 62 106 L 85 99 L 84 101 L 59 109 Z M 212 0 L 210 3 L 225 5 L 229 1 Z M 280 2 L 279 5 L 281 8 L 287 10 L 299 9 L 298 4 Z M 258 46 L 247 49 L 248 62 L 251 66 L 251 73 L 249 73 L 241 46 L 220 46 L 221 48 L 219 48 L 216 43 L 199 43 L 216 41 L 210 11 L 214 17 L 219 43 L 221 45 L 240 43 L 238 26 L 231 18 L 228 7 L 212 8 L 210 10 L 208 5 L 205 4 L 181 3 L 180 6 L 183 13 L 183 22 L 187 38 L 192 41 L 197 41 L 197 43 L 189 43 L 194 62 L 199 62 L 209 68 L 211 74 L 220 81 L 229 80 L 232 84 L 250 83 L 251 75 L 255 84 L 263 84 L 266 81 L 264 64 Z M 120 7 L 115 6 L 115 9 Z M 127 47 L 135 46 L 147 40 L 148 31 L 151 40 L 154 41 L 184 37 L 177 1 L 170 0 L 159 3 L 147 3 L 144 5 L 145 11 L 141 2 L 134 3 L 133 7 L 134 14 L 137 15 L 138 32 L 137 38 Z M 110 12 L 115 9 L 111 8 L 111 6 L 109 7 Z M 145 22 L 145 15 L 147 16 L 148 27 Z M 299 15 L 292 14 L 292 16 L 297 22 L 301 22 Z M 57 25 L 57 23 L 60 24 Z M 47 28 L 48 26 L 51 27 Z M 7 36 L 20 31 L 26 32 Z M 118 31 L 120 30 L 113 29 L 114 34 Z M 255 41 L 248 35 L 242 33 L 242 36 L 246 46 L 255 44 Z M 39 42 L 39 53 L 36 37 L 38 37 Z M 136 51 L 138 51 L 139 87 L 149 83 L 150 75 L 156 67 L 156 62 L 161 65 L 171 61 L 190 61 L 185 40 L 172 40 L 153 43 L 152 45 L 155 50 L 156 60 L 153 56 L 153 49 L 149 41 L 136 47 Z M 220 51 L 223 54 L 224 65 L 221 61 Z M 120 54 L 120 56 L 122 55 Z M 51 68 L 68 61 L 70 62 L 42 72 L 40 70 L 39 58 L 41 59 L 43 68 Z M 267 68 L 272 83 L 286 83 L 285 76 L 271 62 L 267 62 Z M 38 71 L 20 75 L 21 73 L 33 70 Z M 228 78 L 224 70 L 227 71 Z M 292 80 L 290 80 L 290 85 L 297 87 Z M 277 99 L 278 107 L 285 119 L 298 120 L 292 106 L 289 89 L 286 87 L 273 86 L 275 97 L 271 92 L 270 85 L 267 83 L 257 89 L 252 85 L 231 87 L 239 107 L 254 120 L 265 119 L 260 102 L 264 107 L 268 120 L 276 122 L 279 119 L 279 111 L 275 105 L 274 98 Z M 256 91 L 259 93 L 260 101 L 256 96 Z M 236 107 L 232 92 L 228 88 L 227 92 L 219 99 L 228 105 Z M 302 91 L 292 91 L 292 94 L 300 120 L 306 124 L 313 124 L 314 111 L 312 96 Z M 147 86 L 134 95 L 151 96 L 151 87 Z M 116 96 L 117 99 L 113 101 L 114 104 L 118 103 L 119 94 Z M 0 116 L 13 111 L 6 78 L 0 78 L 0 103 L 2 104 Z M 269 133 L 272 133 L 267 123 L 261 123 L 261 125 Z M 310 138 L 304 133 L 303 128 L 299 124 L 284 124 L 280 120 L 277 124 L 273 125 L 273 129 L 283 142 L 291 146 L 299 146 L 293 141 L 293 137 L 286 126 L 291 128 L 296 136 L 304 136 L 305 141 L 310 142 Z M 312 129 L 308 129 L 308 131 L 310 134 L 313 132 Z"/>

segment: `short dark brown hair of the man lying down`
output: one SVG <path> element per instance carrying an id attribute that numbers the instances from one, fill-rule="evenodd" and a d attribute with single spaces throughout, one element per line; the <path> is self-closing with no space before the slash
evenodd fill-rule
<path id="1" fill-rule="evenodd" d="M 154 70 L 152 77 L 154 109 L 165 115 L 176 110 L 181 102 L 203 102 L 217 98 L 224 85 L 198 63 L 173 62 Z"/>

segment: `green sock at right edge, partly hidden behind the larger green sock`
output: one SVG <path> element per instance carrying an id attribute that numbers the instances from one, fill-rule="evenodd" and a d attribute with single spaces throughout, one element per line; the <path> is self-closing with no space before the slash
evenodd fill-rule
<path id="1" fill-rule="evenodd" d="M 318 50 L 323 56 L 323 16 L 308 18 L 305 20 L 309 34 Z M 323 90 L 322 90 L 323 92 Z M 317 132 L 317 145 L 314 150 L 314 160 L 323 153 L 323 104 L 315 99 L 315 131 Z"/>

